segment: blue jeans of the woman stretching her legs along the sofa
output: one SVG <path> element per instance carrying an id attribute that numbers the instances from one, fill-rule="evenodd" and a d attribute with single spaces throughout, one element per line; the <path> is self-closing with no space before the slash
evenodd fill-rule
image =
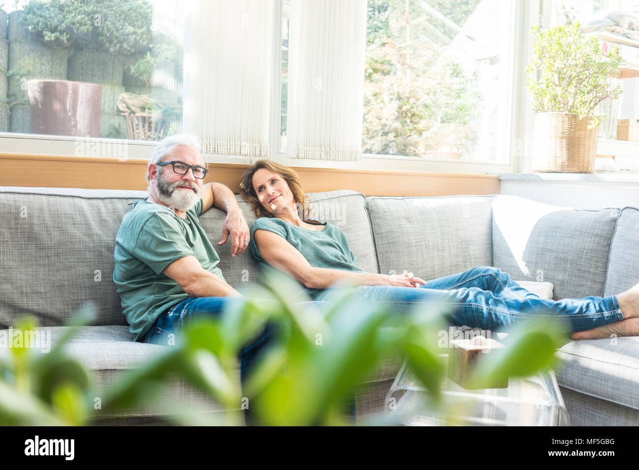
<path id="1" fill-rule="evenodd" d="M 440 305 L 450 310 L 458 326 L 499 331 L 528 319 L 549 319 L 561 331 L 590 330 L 624 319 L 617 296 L 546 300 L 528 292 L 498 268 L 479 266 L 463 273 L 429 280 L 425 286 L 357 287 L 362 299 L 388 305 L 404 313 L 417 305 Z M 330 302 L 331 292 L 318 299 Z"/>

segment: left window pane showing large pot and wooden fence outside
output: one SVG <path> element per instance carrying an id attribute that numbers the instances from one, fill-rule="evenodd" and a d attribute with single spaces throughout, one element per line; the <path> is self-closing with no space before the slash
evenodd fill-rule
<path id="1" fill-rule="evenodd" d="M 8 71 L 8 87 L 0 96 L 0 132 L 130 140 L 180 132 L 178 2 L 81 5 L 68 11 L 77 3 L 4 4 L 8 56 L 0 54 L 0 71 Z"/>

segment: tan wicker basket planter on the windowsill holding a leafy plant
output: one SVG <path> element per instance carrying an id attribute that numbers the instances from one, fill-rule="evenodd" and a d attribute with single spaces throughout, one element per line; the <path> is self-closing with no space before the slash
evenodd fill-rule
<path id="1" fill-rule="evenodd" d="M 600 126 L 578 114 L 543 112 L 535 116 L 536 172 L 594 173 Z"/>

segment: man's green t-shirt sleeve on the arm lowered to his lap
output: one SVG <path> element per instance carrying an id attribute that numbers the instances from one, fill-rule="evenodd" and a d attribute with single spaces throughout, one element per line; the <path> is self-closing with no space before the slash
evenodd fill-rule
<path id="1" fill-rule="evenodd" d="M 159 275 L 172 262 L 194 253 L 172 216 L 153 213 L 142 225 L 133 254 Z"/>

